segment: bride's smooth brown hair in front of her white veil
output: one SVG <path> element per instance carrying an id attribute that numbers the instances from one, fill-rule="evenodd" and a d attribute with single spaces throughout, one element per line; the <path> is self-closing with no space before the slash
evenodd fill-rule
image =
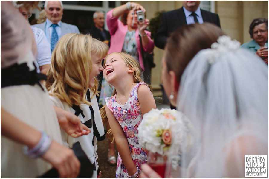
<path id="1" fill-rule="evenodd" d="M 219 36 L 225 35 L 211 23 L 185 25 L 172 33 L 165 46 L 168 71 L 174 71 L 178 85 L 190 60 L 202 49 L 210 48 Z"/>

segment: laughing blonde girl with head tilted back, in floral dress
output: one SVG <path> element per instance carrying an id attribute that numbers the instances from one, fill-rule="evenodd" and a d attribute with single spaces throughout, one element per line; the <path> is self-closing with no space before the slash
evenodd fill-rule
<path id="1" fill-rule="evenodd" d="M 147 151 L 135 134 L 143 115 L 156 108 L 155 101 L 131 55 L 114 52 L 104 64 L 104 78 L 115 87 L 113 96 L 105 98 L 105 110 L 119 152 L 116 178 L 137 178 L 140 165 L 146 163 Z"/>

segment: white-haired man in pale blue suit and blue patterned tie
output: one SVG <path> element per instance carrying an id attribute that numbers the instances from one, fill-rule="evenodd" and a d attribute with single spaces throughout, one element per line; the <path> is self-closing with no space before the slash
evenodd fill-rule
<path id="1" fill-rule="evenodd" d="M 63 5 L 62 1 L 45 1 L 45 14 L 47 19 L 42 24 L 35 24 L 45 32 L 45 35 L 51 45 L 51 52 L 56 46 L 57 41 L 65 34 L 80 33 L 77 26 L 62 22 Z"/>

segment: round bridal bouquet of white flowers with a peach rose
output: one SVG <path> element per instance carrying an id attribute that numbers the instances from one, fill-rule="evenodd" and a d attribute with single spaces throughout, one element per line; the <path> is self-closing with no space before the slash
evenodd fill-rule
<path id="1" fill-rule="evenodd" d="M 144 114 L 137 128 L 139 143 L 160 155 L 180 155 L 193 143 L 192 125 L 183 113 L 174 109 L 152 109 Z"/>

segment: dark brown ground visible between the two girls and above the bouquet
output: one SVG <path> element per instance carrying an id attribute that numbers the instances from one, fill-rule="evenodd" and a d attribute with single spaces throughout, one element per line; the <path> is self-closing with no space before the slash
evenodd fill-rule
<path id="1" fill-rule="evenodd" d="M 162 104 L 161 99 L 155 99 L 156 102 L 156 107 L 158 109 L 161 108 L 169 108 L 170 106 L 167 104 Z M 107 163 L 107 153 L 108 153 L 108 139 L 106 138 L 103 141 L 97 142 L 97 154 L 98 154 L 98 159 L 97 162 L 99 164 L 99 167 L 102 171 L 102 176 L 101 178 L 115 178 L 116 176 L 116 165 L 111 166 Z M 116 149 L 116 154 L 117 154 L 117 149 Z M 116 156 L 117 157 L 117 156 Z"/>

